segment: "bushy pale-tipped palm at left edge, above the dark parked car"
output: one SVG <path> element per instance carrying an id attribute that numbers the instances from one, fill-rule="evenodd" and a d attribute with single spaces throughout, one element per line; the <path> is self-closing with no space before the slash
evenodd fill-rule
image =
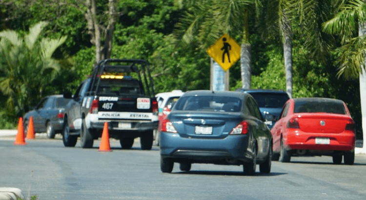
<path id="1" fill-rule="evenodd" d="M 55 78 L 59 64 L 52 58 L 66 40 L 41 38 L 48 23 L 41 21 L 21 37 L 14 30 L 0 32 L 0 91 L 7 97 L 7 113 L 22 116 L 32 100 Z"/>

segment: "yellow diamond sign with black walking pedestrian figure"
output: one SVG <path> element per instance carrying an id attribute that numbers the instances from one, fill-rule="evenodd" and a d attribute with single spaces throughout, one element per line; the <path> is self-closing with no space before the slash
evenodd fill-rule
<path id="1" fill-rule="evenodd" d="M 207 49 L 207 53 L 226 71 L 240 59 L 240 46 L 233 38 L 224 34 Z"/>

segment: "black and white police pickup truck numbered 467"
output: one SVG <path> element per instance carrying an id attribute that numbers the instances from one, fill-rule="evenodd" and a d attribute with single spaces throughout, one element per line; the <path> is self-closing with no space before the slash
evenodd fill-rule
<path id="1" fill-rule="evenodd" d="M 153 130 L 158 127 L 158 102 L 145 60 L 101 60 L 92 75 L 83 80 L 66 105 L 62 141 L 74 147 L 80 137 L 82 148 L 93 147 L 108 122 L 110 138 L 130 149 L 140 138 L 142 150 L 150 150 Z"/>

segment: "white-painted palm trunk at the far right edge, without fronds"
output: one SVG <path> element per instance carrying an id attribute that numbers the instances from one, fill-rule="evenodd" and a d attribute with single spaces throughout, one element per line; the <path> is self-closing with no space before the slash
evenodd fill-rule
<path id="1" fill-rule="evenodd" d="M 358 36 L 366 35 L 366 23 L 359 23 Z M 364 58 L 366 60 L 366 58 Z M 364 65 L 361 65 L 362 73 L 360 73 L 360 99 L 361 99 L 361 116 L 362 116 L 362 136 L 363 136 L 363 150 L 366 149 L 366 61 L 364 60 Z"/>

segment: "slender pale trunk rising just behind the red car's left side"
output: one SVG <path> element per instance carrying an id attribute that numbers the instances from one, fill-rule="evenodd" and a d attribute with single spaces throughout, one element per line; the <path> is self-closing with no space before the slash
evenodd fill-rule
<path id="1" fill-rule="evenodd" d="M 289 36 L 284 36 L 284 38 L 286 93 L 292 98 L 292 40 Z"/>

